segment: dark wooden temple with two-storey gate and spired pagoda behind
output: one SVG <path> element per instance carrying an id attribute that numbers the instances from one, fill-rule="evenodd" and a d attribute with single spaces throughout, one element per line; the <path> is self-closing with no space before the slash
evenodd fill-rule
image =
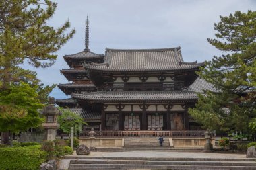
<path id="1" fill-rule="evenodd" d="M 55 103 L 81 115 L 96 130 L 199 130 L 188 114 L 197 93 L 210 83 L 195 71 L 203 63 L 185 62 L 181 48 L 112 49 L 96 54 L 89 49 L 86 20 L 86 48 L 65 55 L 69 69 L 61 73 L 71 83 L 58 87 L 69 99 Z"/>

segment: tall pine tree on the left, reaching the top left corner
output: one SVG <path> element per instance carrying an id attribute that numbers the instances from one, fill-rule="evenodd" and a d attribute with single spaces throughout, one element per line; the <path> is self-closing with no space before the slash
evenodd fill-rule
<path id="1" fill-rule="evenodd" d="M 66 33 L 70 27 L 69 22 L 65 22 L 59 28 L 53 28 L 47 24 L 48 20 L 53 17 L 56 7 L 57 3 L 49 0 L 44 0 L 43 3 L 39 0 L 0 1 L 1 95 L 11 95 L 13 85 L 22 85 L 22 82 L 24 82 L 30 85 L 30 88 L 36 90 L 38 94 L 36 99 L 45 102 L 46 96 L 55 87 L 44 87 L 40 80 L 36 78 L 35 72 L 22 69 L 20 65 L 28 62 L 34 67 L 50 67 L 57 58 L 55 52 L 75 34 L 75 30 Z M 6 112 L 1 112 L 5 114 L 0 115 L 0 124 L 5 124 L 5 121 L 9 119 L 7 113 L 14 112 L 13 115 L 10 114 L 14 118 L 24 110 L 24 108 L 18 107 L 11 101 L 9 102 L 6 103 L 3 98 L 0 99 L 2 109 L 9 108 Z M 32 107 L 32 105 L 30 106 Z M 31 116 L 35 116 L 35 119 L 37 119 L 38 113 Z M 25 122 L 29 124 L 29 121 Z M 19 124 L 16 123 L 13 122 L 11 126 Z M 10 126 L 7 127 L 8 129 L 0 126 L 0 132 L 13 131 Z"/>

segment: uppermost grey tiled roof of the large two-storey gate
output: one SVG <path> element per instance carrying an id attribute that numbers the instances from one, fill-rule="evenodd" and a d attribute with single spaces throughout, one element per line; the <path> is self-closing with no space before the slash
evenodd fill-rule
<path id="1" fill-rule="evenodd" d="M 184 62 L 180 47 L 148 50 L 106 48 L 104 63 L 84 64 L 84 67 L 100 71 L 181 71 L 196 69 L 201 65 L 197 62 Z"/>

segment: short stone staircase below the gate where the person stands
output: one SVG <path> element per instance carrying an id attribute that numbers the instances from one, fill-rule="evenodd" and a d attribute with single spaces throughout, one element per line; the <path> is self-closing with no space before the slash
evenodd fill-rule
<path id="1" fill-rule="evenodd" d="M 168 138 L 160 146 L 158 138 L 125 138 L 124 148 L 170 148 Z"/>

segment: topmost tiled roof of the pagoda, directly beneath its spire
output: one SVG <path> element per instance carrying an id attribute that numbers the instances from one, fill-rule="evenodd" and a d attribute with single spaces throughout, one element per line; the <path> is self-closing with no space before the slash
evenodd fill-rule
<path id="1" fill-rule="evenodd" d="M 83 50 L 82 52 L 78 52 L 77 54 L 65 55 L 63 58 L 66 59 L 87 59 L 87 58 L 102 58 L 104 54 L 96 54 L 94 52 L 90 52 L 90 50 Z"/>

